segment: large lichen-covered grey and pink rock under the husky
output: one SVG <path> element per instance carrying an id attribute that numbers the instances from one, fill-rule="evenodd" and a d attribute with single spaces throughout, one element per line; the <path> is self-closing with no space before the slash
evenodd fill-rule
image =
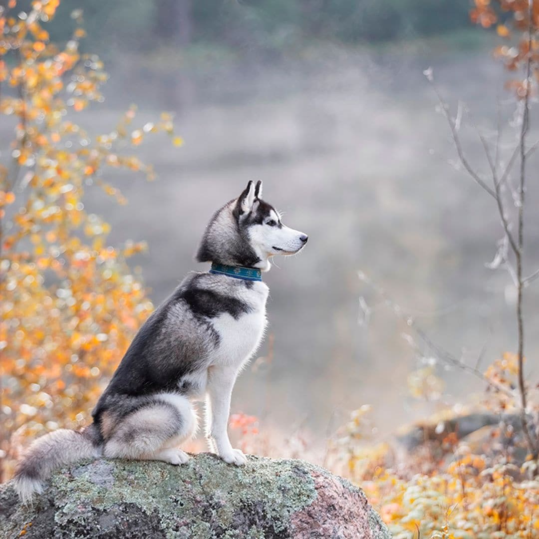
<path id="1" fill-rule="evenodd" d="M 96 460 L 54 475 L 33 507 L 0 485 L 0 537 L 385 539 L 362 490 L 301 460 Z"/>

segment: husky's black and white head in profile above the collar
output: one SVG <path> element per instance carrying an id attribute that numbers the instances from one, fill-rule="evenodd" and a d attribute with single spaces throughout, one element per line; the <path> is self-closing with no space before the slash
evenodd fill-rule
<path id="1" fill-rule="evenodd" d="M 268 271 L 269 258 L 295 254 L 307 243 L 307 235 L 281 222 L 279 212 L 263 201 L 262 182 L 247 183 L 238 198 L 218 210 L 206 227 L 196 258 Z"/>

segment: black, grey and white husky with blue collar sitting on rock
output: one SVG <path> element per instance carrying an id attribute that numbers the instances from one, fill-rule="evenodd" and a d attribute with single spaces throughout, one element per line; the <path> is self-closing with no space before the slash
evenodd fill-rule
<path id="1" fill-rule="evenodd" d="M 266 327 L 261 272 L 275 254 L 297 253 L 307 242 L 261 194 L 261 182 L 250 181 L 213 215 L 196 255 L 212 262 L 210 271 L 191 272 L 143 324 L 92 412 L 93 423 L 51 432 L 30 446 L 14 478 L 23 501 L 43 492 L 55 469 L 81 459 L 184 464 L 189 457 L 177 446 L 197 430 L 196 399 L 205 398 L 210 451 L 245 464 L 227 423 L 234 382 Z"/>

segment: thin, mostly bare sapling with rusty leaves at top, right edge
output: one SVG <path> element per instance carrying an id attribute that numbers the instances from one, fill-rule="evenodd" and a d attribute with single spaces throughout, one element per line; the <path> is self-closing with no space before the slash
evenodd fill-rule
<path id="1" fill-rule="evenodd" d="M 440 98 L 441 108 L 449 123 L 453 140 L 457 148 L 460 162 L 467 173 L 481 188 L 493 198 L 495 208 L 499 213 L 503 237 L 496 254 L 493 269 L 505 267 L 513 279 L 517 292 L 516 299 L 516 355 L 507 355 L 504 374 L 496 374 L 491 370 L 489 375 L 495 376 L 497 382 L 507 383 L 505 371 L 514 371 L 519 391 L 518 407 L 520 408 L 521 425 L 524 438 L 530 453 L 530 458 L 539 457 L 539 426 L 530 421 L 531 408 L 528 398 L 528 383 L 524 368 L 524 291 L 537 277 L 539 270 L 528 275 L 524 273 L 524 209 L 526 207 L 526 186 L 529 175 L 528 160 L 537 149 L 539 141 L 529 144 L 531 96 L 537 89 L 539 78 L 539 0 L 474 0 L 475 8 L 471 11 L 472 22 L 489 28 L 497 24 L 497 33 L 507 40 L 514 40 L 514 46 L 501 45 L 496 47 L 494 54 L 501 58 L 510 72 L 515 76 L 507 81 L 506 87 L 514 91 L 517 99 L 517 136 L 514 149 L 508 161 L 504 163 L 501 157 L 500 140 L 501 126 L 497 128 L 496 141 L 493 147 L 479 132 L 489 167 L 489 183 L 485 175 L 480 174 L 468 162 L 460 142 L 457 120 L 452 118 L 447 104 Z M 515 34 L 515 38 L 513 37 Z M 521 75 L 516 72 L 521 71 Z M 432 77 L 427 73 L 427 78 Z M 438 93 L 438 92 L 437 92 Z M 440 94 L 438 93 L 440 97 Z M 458 115 L 458 114 L 457 114 Z M 514 168 L 517 169 L 516 173 Z M 508 369 L 507 363 L 514 363 L 513 369 Z M 537 417 L 535 418 L 537 422 Z"/>

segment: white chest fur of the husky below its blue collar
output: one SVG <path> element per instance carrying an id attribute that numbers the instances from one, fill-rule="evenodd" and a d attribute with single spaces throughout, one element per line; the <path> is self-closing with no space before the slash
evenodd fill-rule
<path id="1" fill-rule="evenodd" d="M 266 328 L 266 298 L 267 287 L 264 294 L 257 294 L 256 301 L 252 303 L 253 310 L 234 318 L 229 313 L 223 313 L 212 321 L 213 328 L 219 336 L 216 357 L 213 364 L 242 365 L 250 359 L 259 347 Z"/>

